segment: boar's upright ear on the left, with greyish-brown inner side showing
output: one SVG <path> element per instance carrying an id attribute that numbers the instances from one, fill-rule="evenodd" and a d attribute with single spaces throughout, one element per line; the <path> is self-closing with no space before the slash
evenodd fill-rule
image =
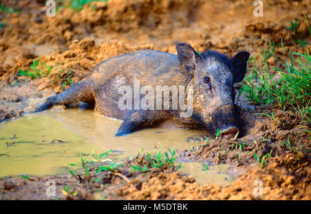
<path id="1" fill-rule="evenodd" d="M 185 68 L 187 75 L 194 74 L 196 61 L 200 55 L 187 43 L 176 43 L 179 66 Z"/>

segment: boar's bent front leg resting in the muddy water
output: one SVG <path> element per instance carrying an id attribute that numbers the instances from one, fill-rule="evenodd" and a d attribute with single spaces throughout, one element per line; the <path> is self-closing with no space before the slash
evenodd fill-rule
<path id="1" fill-rule="evenodd" d="M 129 135 L 136 130 L 153 127 L 164 120 L 164 114 L 159 110 L 135 110 L 127 117 L 115 136 Z"/>

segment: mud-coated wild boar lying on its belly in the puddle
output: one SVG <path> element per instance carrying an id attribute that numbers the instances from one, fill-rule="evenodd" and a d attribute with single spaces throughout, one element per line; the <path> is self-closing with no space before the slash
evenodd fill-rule
<path id="1" fill-rule="evenodd" d="M 233 84 L 243 80 L 249 53 L 238 52 L 230 59 L 211 50 L 198 53 L 187 43 L 176 43 L 176 49 L 178 55 L 139 50 L 107 59 L 82 81 L 26 112 L 84 101 L 95 106 L 97 113 L 124 120 L 117 136 L 170 124 L 211 133 L 220 130 L 221 137 L 234 137 L 241 124 L 234 107 Z M 135 86 L 135 81 L 144 92 Z M 159 87 L 164 92 L 162 96 L 160 90 L 160 97 Z M 174 87 L 181 90 L 176 93 Z M 165 93 L 169 96 L 167 100 Z M 179 99 L 176 99 L 177 94 Z M 182 94 L 185 97 L 180 98 Z M 130 99 L 120 102 L 124 95 Z M 176 105 L 178 100 L 179 105 Z M 171 108 L 165 108 L 165 101 L 169 101 Z M 120 103 L 126 108 L 120 108 Z"/>

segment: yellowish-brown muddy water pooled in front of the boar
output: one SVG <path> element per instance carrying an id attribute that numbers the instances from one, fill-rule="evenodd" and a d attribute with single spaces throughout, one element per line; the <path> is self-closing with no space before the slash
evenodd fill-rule
<path id="1" fill-rule="evenodd" d="M 156 153 L 161 147 L 163 151 L 189 149 L 200 143 L 187 142 L 187 138 L 204 134 L 198 130 L 149 128 L 115 137 L 120 124 L 122 121 L 94 115 L 94 111 L 88 109 L 46 110 L 23 115 L 16 121 L 4 121 L 0 124 L 0 177 L 20 173 L 68 173 L 75 169 L 68 164 L 79 163 L 80 155 L 89 154 L 93 149 L 96 154 L 114 150 L 109 157 L 113 160 L 137 155 L 142 148 L 150 153 Z M 202 163 L 182 163 L 181 171 L 194 175 L 200 184 L 231 181 L 216 175 L 220 170 L 203 172 Z"/>

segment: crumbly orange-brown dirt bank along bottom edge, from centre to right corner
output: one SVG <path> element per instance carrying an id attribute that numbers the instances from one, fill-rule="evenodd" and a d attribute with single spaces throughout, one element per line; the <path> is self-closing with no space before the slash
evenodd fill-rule
<path id="1" fill-rule="evenodd" d="M 303 167 L 306 165 L 310 165 L 310 159 L 284 155 L 270 160 L 265 169 L 254 166 L 223 188 L 199 186 L 193 178 L 178 173 L 160 173 L 149 175 L 140 189 L 131 186 L 140 182 L 134 179 L 118 193 L 129 200 L 310 200 L 310 168 Z M 263 182 L 263 195 L 254 195 L 256 180 Z"/>

